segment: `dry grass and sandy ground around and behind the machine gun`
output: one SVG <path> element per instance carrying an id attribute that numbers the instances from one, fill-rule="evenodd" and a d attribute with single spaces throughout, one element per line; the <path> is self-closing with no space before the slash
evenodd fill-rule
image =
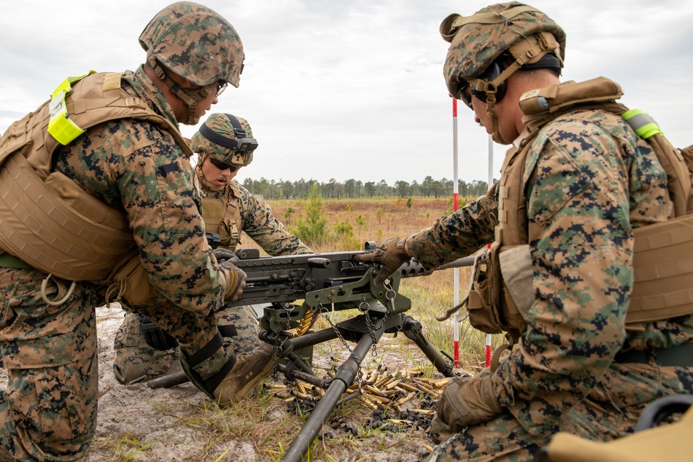
<path id="1" fill-rule="evenodd" d="M 270 204 L 274 215 L 292 229 L 305 220 L 310 199 Z M 449 213 L 448 199 L 322 200 L 326 238 L 310 243 L 317 252 L 360 250 L 367 240 L 406 236 Z M 254 247 L 244 242 L 244 247 Z M 459 270 L 461 287 L 469 268 Z M 412 300 L 408 314 L 421 322 L 423 334 L 438 350 L 453 353 L 453 323 L 435 317 L 453 305 L 453 269 L 407 278 L 401 294 Z M 464 294 L 460 294 L 463 296 Z M 316 329 L 358 313 L 334 312 L 318 319 Z M 328 319 L 326 319 L 328 318 Z M 265 381 L 258 396 L 219 409 L 191 384 L 149 389 L 125 387 L 112 373 L 113 339 L 123 319 L 117 303 L 97 309 L 99 405 L 96 437 L 87 462 L 121 461 L 279 461 L 306 420 L 311 401 L 286 387 L 283 377 Z M 319 376 L 334 371 L 349 355 L 338 340 L 315 346 L 313 368 Z M 457 373 L 475 373 L 484 364 L 484 335 L 462 323 Z M 426 430 L 443 378 L 404 335 L 383 335 L 362 371 L 377 382 L 392 375 L 401 385 L 385 390 L 389 399 L 358 398 L 340 403 L 310 446 L 305 461 L 422 461 L 433 445 Z M 0 373 L 0 384 L 6 376 Z M 389 384 L 392 384 L 389 382 Z M 405 387 L 405 388 L 401 388 Z M 418 387 L 419 392 L 410 392 Z M 401 393 L 400 391 L 401 390 Z M 349 393 L 349 392 L 347 392 Z M 308 393 L 310 394 L 310 393 Z M 293 396 L 292 396 L 293 395 Z M 302 404 L 297 408 L 296 403 Z M 375 408 L 375 409 L 374 409 Z"/>

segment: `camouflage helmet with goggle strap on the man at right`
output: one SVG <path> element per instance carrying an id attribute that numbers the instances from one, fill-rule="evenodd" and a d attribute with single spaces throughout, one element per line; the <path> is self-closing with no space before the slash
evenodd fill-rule
<path id="1" fill-rule="evenodd" d="M 505 81 L 518 69 L 556 69 L 565 57 L 565 32 L 553 19 L 518 1 L 497 3 L 464 17 L 449 15 L 440 33 L 450 42 L 443 68 L 448 91 L 464 100 L 473 93 L 486 100 L 493 138 L 500 140 L 494 105 L 505 95 Z"/>

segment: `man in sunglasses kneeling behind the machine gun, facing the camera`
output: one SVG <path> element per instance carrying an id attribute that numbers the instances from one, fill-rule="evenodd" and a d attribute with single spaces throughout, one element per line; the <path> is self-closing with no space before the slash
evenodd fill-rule
<path id="1" fill-rule="evenodd" d="M 312 254 L 310 248 L 288 233 L 272 215 L 262 196 L 252 195 L 236 183 L 238 170 L 252 161 L 256 145 L 249 123 L 231 114 L 211 114 L 193 134 L 191 148 L 198 153 L 195 173 L 207 233 L 217 234 L 219 248 L 230 251 L 236 250 L 243 231 L 271 256 Z M 218 325 L 236 328 L 236 354 L 258 346 L 258 321 L 252 306 L 222 308 L 216 317 Z M 136 313 L 125 315 L 114 341 L 113 368 L 121 383 L 142 377 L 150 380 L 168 371 L 175 348 L 161 341 L 170 338 L 157 329 L 146 317 Z"/>

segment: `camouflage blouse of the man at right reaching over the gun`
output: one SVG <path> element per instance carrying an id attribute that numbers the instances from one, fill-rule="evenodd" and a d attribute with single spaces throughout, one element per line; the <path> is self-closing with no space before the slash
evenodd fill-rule
<path id="1" fill-rule="evenodd" d="M 604 373 L 618 366 L 617 352 L 693 341 L 693 321 L 678 317 L 642 332 L 625 330 L 632 229 L 667 220 L 672 204 L 656 154 L 620 118 L 583 111 L 555 119 L 532 141 L 525 171 L 535 174 L 527 189 L 535 301 L 527 331 L 495 371 L 493 387 L 525 429 L 544 434 L 602 387 Z M 414 234 L 407 247 L 429 267 L 466 256 L 493 240 L 497 214 L 493 188 Z"/>

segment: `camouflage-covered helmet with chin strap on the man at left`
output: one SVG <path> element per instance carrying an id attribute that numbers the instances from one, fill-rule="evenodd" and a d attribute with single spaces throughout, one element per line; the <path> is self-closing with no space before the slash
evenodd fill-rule
<path id="1" fill-rule="evenodd" d="M 238 87 L 243 44 L 234 26 L 206 6 L 191 1 L 170 4 L 147 24 L 139 43 L 157 77 L 188 105 L 190 125 L 198 123 L 195 105 L 209 96 L 212 85 Z M 180 88 L 167 69 L 202 88 Z"/>

